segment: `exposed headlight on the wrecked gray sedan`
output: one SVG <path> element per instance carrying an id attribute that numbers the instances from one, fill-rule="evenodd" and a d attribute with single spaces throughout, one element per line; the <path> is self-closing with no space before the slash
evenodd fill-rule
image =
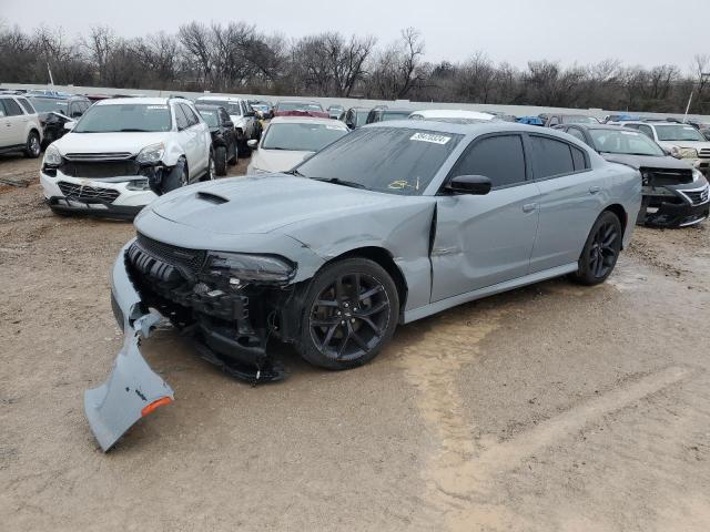
<path id="1" fill-rule="evenodd" d="M 207 269 L 229 275 L 230 284 L 237 286 L 242 283 L 287 283 L 296 275 L 296 265 L 283 257 L 226 252 L 210 252 Z"/>

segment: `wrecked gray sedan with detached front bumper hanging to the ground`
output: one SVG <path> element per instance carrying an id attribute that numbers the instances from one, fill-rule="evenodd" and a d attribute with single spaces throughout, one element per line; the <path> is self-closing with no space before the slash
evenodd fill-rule
<path id="1" fill-rule="evenodd" d="M 384 122 L 287 174 L 174 191 L 136 217 L 113 267 L 125 342 L 87 415 L 108 449 L 172 400 L 138 349 L 162 317 L 253 382 L 284 375 L 274 337 L 320 367 L 353 368 L 398 324 L 550 277 L 602 283 L 640 201 L 637 171 L 503 122 Z"/>

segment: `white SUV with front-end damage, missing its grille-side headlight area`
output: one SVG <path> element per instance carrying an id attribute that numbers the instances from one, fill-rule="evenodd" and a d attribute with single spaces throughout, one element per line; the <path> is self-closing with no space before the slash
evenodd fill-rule
<path id="1" fill-rule="evenodd" d="M 189 100 L 103 100 L 67 126 L 40 173 L 58 214 L 132 218 L 156 194 L 214 175 L 210 127 Z"/>

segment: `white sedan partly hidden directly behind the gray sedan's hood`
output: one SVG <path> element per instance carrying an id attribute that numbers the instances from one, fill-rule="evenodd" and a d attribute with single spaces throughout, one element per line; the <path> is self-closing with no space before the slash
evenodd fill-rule
<path id="1" fill-rule="evenodd" d="M 254 152 L 246 173 L 286 172 L 348 131 L 338 120 L 276 116 L 261 142 L 248 142 Z"/>

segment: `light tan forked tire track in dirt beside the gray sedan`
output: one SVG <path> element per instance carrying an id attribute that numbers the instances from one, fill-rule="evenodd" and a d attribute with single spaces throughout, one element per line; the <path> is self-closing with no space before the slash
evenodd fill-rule
<path id="1" fill-rule="evenodd" d="M 513 440 L 486 444 L 473 439 L 474 427 L 465 415 L 456 379 L 463 367 L 479 356 L 480 342 L 501 327 L 505 310 L 465 308 L 455 314 L 458 316 L 436 318 L 436 334 L 425 332 L 397 359 L 408 382 L 419 392 L 417 407 L 434 439 L 435 450 L 422 471 L 427 490 L 418 519 L 436 530 L 464 532 L 474 525 L 526 529 L 529 523 L 498 501 L 498 475 L 605 415 L 688 379 L 696 371 L 671 366 L 632 378 Z"/>

